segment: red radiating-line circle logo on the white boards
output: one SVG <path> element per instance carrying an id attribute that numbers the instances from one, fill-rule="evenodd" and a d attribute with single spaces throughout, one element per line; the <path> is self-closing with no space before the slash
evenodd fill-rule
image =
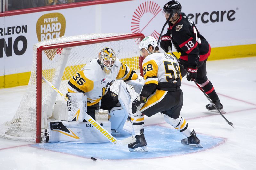
<path id="1" fill-rule="evenodd" d="M 162 8 L 153 1 L 145 1 L 140 4 L 132 15 L 132 33 L 144 33 L 158 40 L 160 33 L 154 30 L 154 19 L 162 11 Z"/>

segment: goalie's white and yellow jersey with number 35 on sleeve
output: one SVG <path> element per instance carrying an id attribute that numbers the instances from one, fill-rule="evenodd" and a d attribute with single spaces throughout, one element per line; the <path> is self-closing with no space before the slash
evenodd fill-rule
<path id="1" fill-rule="evenodd" d="M 87 96 L 87 106 L 99 103 L 116 79 L 136 80 L 138 75 L 116 58 L 111 74 L 107 75 L 101 69 L 98 59 L 93 59 L 77 72 L 68 82 L 68 92 L 83 92 Z"/>

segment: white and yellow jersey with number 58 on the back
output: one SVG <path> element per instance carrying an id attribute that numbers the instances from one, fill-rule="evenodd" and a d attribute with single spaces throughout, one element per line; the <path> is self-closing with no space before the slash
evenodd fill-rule
<path id="1" fill-rule="evenodd" d="M 180 76 L 180 67 L 177 60 L 170 54 L 153 53 L 143 60 L 143 74 L 145 85 L 161 82 L 176 83 Z"/>

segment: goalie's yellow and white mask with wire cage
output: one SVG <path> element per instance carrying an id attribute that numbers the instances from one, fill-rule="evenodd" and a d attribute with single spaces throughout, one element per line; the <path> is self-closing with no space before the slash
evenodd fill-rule
<path id="1" fill-rule="evenodd" d="M 116 62 L 116 54 L 112 48 L 105 47 L 99 53 L 99 61 L 102 70 L 106 74 L 111 73 L 111 68 Z"/>

